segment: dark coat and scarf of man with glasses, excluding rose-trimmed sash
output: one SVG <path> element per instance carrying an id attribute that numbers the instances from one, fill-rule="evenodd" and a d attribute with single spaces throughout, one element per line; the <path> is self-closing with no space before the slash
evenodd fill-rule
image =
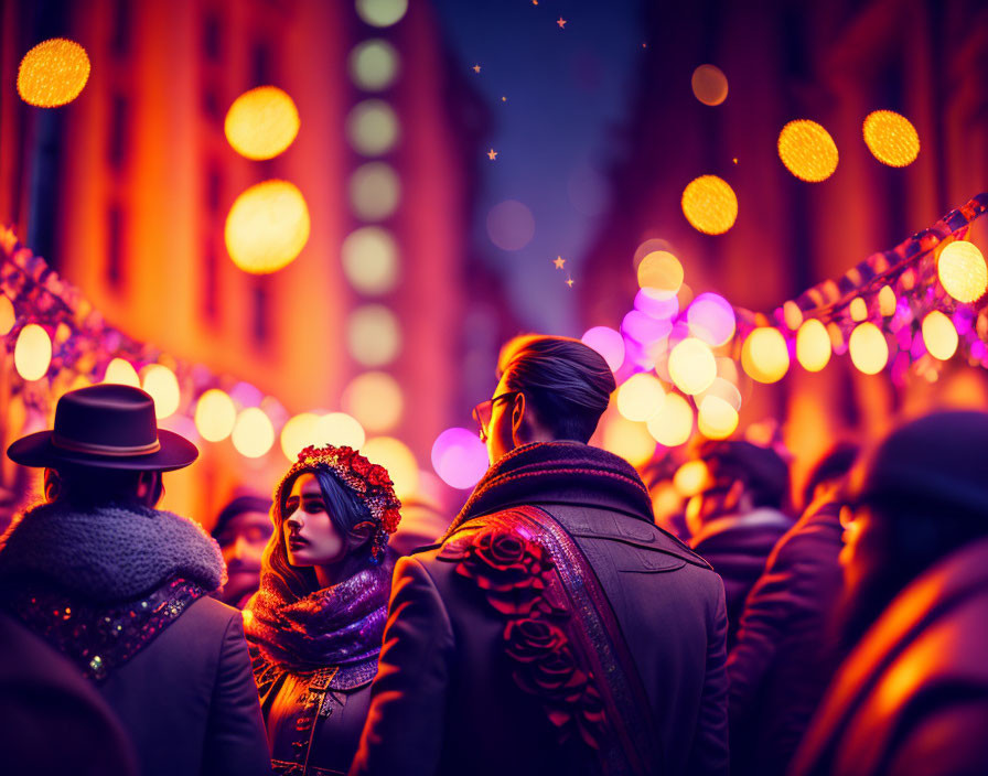
<path id="1" fill-rule="evenodd" d="M 631 466 L 570 442 L 509 453 L 477 486 L 443 543 L 398 561 L 351 773 L 599 772 L 579 735 L 559 743 L 539 699 L 513 679 L 505 618 L 480 589 L 485 582 L 457 571 L 464 540 L 518 505 L 551 515 L 592 565 L 637 665 L 659 773 L 727 774 L 720 578 L 655 526 Z"/>

